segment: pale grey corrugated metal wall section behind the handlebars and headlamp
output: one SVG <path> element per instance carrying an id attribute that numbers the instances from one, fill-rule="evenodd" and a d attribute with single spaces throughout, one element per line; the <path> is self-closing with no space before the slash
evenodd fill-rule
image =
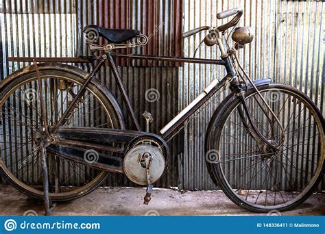
<path id="1" fill-rule="evenodd" d="M 250 25 L 255 38 L 241 51 L 241 62 L 253 79 L 271 77 L 275 82 L 296 86 L 308 94 L 324 115 L 324 2 L 322 1 L 211 1 L 184 2 L 184 31 L 202 25 L 221 25 L 217 12 L 241 7 L 240 25 Z M 184 55 L 193 56 L 205 34 L 184 40 Z M 217 58 L 216 47 L 202 47 L 197 57 Z M 195 99 L 224 68 L 185 64 L 180 68 L 179 109 Z M 186 190 L 219 189 L 210 180 L 204 163 L 204 133 L 210 116 L 223 94 L 217 94 L 185 128 L 184 155 L 179 166 L 180 185 Z M 320 190 L 325 190 L 323 181 Z"/>

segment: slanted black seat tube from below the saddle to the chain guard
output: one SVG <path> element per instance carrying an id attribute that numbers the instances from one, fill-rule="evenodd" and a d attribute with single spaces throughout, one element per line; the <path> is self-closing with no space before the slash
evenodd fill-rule
<path id="1" fill-rule="evenodd" d="M 108 57 L 108 62 L 110 62 L 110 66 L 112 68 L 112 72 L 115 76 L 115 79 L 117 81 L 117 86 L 119 87 L 119 90 L 122 94 L 122 98 L 123 101 L 125 101 L 126 107 L 128 107 L 128 112 L 131 115 L 132 121 L 136 127 L 137 131 L 141 131 L 140 125 L 138 120 L 136 120 L 136 116 L 134 114 L 134 111 L 132 109 L 131 103 L 130 103 L 130 99 L 128 97 L 128 94 L 126 93 L 125 87 L 123 86 L 123 82 L 121 79 L 121 75 L 119 75 L 119 71 L 117 70 L 117 66 L 115 65 L 115 61 L 114 58 L 112 57 L 112 54 L 110 52 L 106 53 L 107 57 Z"/>

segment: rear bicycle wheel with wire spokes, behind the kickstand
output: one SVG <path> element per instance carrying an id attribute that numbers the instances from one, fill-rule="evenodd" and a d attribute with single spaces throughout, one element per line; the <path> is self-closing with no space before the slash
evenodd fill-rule
<path id="1" fill-rule="evenodd" d="M 60 119 L 73 96 L 84 83 L 84 73 L 58 68 L 44 70 L 40 65 L 47 124 Z M 43 199 L 43 171 L 36 136 L 42 133 L 40 92 L 36 72 L 19 75 L 0 93 L 0 170 L 4 182 L 34 198 Z M 77 103 L 66 127 L 105 127 L 121 129 L 123 118 L 100 88 L 90 83 Z M 90 168 L 47 152 L 49 196 L 53 201 L 71 200 L 93 191 L 108 172 Z"/>

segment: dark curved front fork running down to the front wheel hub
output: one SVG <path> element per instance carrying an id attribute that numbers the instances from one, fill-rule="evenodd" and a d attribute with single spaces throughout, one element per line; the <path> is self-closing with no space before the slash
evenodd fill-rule
<path id="1" fill-rule="evenodd" d="M 232 79 L 232 81 L 230 82 L 230 88 L 232 91 L 236 93 L 236 96 L 239 96 L 241 99 L 241 104 L 243 105 L 243 109 L 241 108 L 241 105 L 239 105 L 237 107 L 237 110 L 239 112 L 241 122 L 243 123 L 243 127 L 245 127 L 246 131 L 250 135 L 252 135 L 252 138 L 254 138 L 259 145 L 264 144 L 272 148 L 274 151 L 278 151 L 278 148 L 274 144 L 269 142 L 269 140 L 265 138 L 265 136 L 261 133 L 261 131 L 258 131 L 256 124 L 252 119 L 252 114 L 250 114 L 250 110 L 248 109 L 248 105 L 245 99 L 245 88 L 241 85 L 241 83 L 237 81 L 237 79 Z M 249 124 L 246 122 L 246 118 L 248 119 Z"/>

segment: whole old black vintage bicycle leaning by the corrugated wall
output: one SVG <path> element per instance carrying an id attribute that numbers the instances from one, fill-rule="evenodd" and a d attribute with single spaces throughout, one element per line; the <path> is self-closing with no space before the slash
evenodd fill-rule
<path id="1" fill-rule="evenodd" d="M 230 94 L 206 130 L 202 160 L 211 179 L 234 203 L 250 211 L 285 211 L 302 204 L 324 177 L 324 118 L 300 90 L 271 79 L 253 81 L 245 72 L 237 53 L 254 36 L 250 27 L 238 27 L 242 14 L 241 8 L 220 12 L 219 19 L 234 17 L 219 27 L 199 27 L 183 34 L 185 38 L 207 31 L 202 43 L 219 47 L 219 60 L 115 53 L 115 49 L 143 47 L 148 38 L 136 30 L 97 25 L 88 25 L 84 32 L 89 49 L 100 55 L 60 60 L 92 62 L 91 73 L 62 63 L 38 64 L 56 58 L 10 58 L 34 64 L 0 83 L 3 181 L 44 199 L 49 213 L 51 201 L 84 196 L 101 185 L 109 172 L 116 172 L 146 185 L 144 203 L 148 204 L 153 184 L 169 159 L 168 140 L 217 91 L 229 87 Z M 99 45 L 98 38 L 108 43 Z M 128 40 L 134 41 L 123 43 Z M 217 64 L 225 67 L 227 75 L 213 80 L 160 134 L 154 134 L 140 129 L 115 64 L 117 57 Z M 106 61 L 127 114 L 95 78 Z M 134 129 L 126 129 L 125 116 Z M 144 116 L 149 122 L 150 114 Z M 74 176 L 84 180 L 71 186 L 69 178 Z"/>

